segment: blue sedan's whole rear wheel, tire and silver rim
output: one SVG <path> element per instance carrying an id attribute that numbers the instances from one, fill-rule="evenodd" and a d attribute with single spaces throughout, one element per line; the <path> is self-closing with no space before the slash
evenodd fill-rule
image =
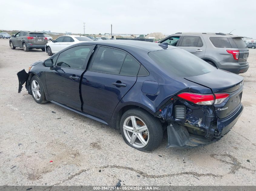
<path id="1" fill-rule="evenodd" d="M 156 149 L 163 138 L 159 120 L 141 109 L 126 111 L 121 117 L 120 130 L 126 144 L 144 152 Z"/>

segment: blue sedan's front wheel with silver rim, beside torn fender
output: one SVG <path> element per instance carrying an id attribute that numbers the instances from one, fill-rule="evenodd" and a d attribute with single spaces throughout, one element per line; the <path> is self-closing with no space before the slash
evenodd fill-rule
<path id="1" fill-rule="evenodd" d="M 30 80 L 30 88 L 32 92 L 32 97 L 36 103 L 46 103 L 48 102 L 45 98 L 45 91 L 42 82 L 37 76 L 33 76 Z"/>

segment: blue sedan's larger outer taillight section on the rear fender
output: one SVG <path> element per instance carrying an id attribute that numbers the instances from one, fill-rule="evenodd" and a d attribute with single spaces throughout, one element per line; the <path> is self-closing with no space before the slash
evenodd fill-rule
<path id="1" fill-rule="evenodd" d="M 212 105 L 215 100 L 213 94 L 181 93 L 178 97 L 199 105 Z"/>

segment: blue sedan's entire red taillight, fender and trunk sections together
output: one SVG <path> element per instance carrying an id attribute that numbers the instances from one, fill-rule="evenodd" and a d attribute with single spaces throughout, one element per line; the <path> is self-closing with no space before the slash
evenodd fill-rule
<path id="1" fill-rule="evenodd" d="M 215 95 L 215 97 L 214 97 Z M 181 93 L 177 96 L 187 100 L 189 102 L 199 104 L 199 105 L 212 105 L 214 104 L 220 104 L 222 103 L 229 94 L 227 93 L 218 93 L 218 94 L 194 94 L 194 93 Z"/>

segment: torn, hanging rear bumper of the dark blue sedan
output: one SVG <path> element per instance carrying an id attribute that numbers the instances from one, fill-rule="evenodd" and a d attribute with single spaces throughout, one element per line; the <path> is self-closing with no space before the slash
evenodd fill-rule
<path id="1" fill-rule="evenodd" d="M 167 148 L 196 148 L 209 145 L 220 140 L 235 125 L 243 111 L 243 105 L 240 104 L 236 112 L 224 119 L 218 119 L 217 125 L 212 126 L 209 133 L 213 132 L 214 136 L 200 136 L 190 133 L 186 124 L 173 123 L 167 126 L 168 145 Z M 196 127 L 195 127 L 196 128 Z"/>

